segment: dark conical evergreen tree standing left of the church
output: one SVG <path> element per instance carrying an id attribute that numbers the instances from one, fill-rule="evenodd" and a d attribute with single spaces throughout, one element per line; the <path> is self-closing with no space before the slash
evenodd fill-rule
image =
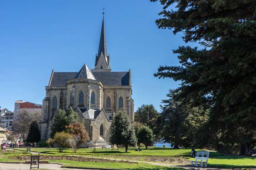
<path id="1" fill-rule="evenodd" d="M 40 131 L 38 128 L 37 121 L 32 121 L 30 124 L 29 133 L 27 135 L 27 142 L 34 143 L 40 141 Z"/>

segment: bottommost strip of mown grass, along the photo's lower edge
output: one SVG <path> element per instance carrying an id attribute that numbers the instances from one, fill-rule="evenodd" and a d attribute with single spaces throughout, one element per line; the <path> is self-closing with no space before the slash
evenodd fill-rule
<path id="1" fill-rule="evenodd" d="M 185 170 L 177 167 L 162 167 L 148 163 L 96 163 L 96 162 L 77 162 L 70 160 L 50 160 L 51 163 L 63 163 L 63 167 L 80 167 L 80 168 L 106 168 L 122 170 Z"/>

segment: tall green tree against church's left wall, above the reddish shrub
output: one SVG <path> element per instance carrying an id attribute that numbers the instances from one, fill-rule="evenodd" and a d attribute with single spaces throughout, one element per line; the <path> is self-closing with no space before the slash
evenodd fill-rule
<path id="1" fill-rule="evenodd" d="M 80 121 L 79 115 L 71 107 L 67 111 L 60 109 L 53 118 L 50 136 L 53 137 L 56 132 L 65 131 L 67 125 L 78 121 Z"/>

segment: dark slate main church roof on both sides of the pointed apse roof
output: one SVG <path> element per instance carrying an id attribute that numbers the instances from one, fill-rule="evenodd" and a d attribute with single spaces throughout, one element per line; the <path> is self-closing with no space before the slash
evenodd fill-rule
<path id="1" fill-rule="evenodd" d="M 78 72 L 54 72 L 50 86 L 65 86 Z M 129 85 L 129 72 L 93 72 L 103 85 Z"/>

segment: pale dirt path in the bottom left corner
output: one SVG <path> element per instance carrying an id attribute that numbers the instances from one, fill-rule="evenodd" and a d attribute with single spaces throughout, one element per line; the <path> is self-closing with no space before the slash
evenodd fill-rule
<path id="1" fill-rule="evenodd" d="M 39 165 L 39 168 L 47 169 L 47 170 L 82 170 L 82 169 L 73 169 L 73 168 L 62 168 L 61 164 L 56 164 L 56 163 L 41 163 Z M 30 169 L 30 164 L 26 164 L 26 163 L 0 163 L 0 170 L 29 170 L 29 169 Z"/>

